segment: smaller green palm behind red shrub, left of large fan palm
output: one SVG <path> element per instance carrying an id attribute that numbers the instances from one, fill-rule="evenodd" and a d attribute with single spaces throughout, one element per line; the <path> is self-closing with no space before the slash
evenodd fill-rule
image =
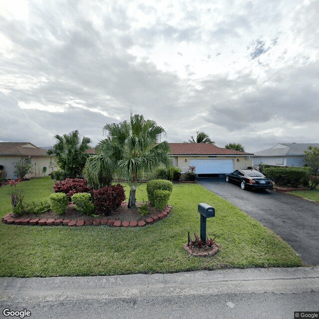
<path id="1" fill-rule="evenodd" d="M 65 177 L 82 177 L 82 170 L 89 157 L 85 151 L 90 149 L 91 139 L 83 137 L 81 141 L 78 130 L 61 136 L 56 135 L 54 138 L 58 142 L 47 152 L 47 155 L 55 154 L 56 161 L 64 171 Z"/>

